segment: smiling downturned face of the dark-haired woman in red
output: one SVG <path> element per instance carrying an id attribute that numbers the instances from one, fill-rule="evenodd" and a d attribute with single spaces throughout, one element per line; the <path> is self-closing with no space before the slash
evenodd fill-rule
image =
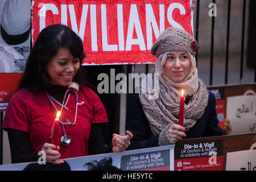
<path id="1" fill-rule="evenodd" d="M 52 85 L 68 86 L 79 68 L 79 58 L 73 57 L 68 48 L 59 48 L 46 65 L 46 72 Z"/>

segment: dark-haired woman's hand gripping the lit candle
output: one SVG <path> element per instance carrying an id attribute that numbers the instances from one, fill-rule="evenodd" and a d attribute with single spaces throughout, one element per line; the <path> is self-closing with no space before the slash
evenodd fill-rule
<path id="1" fill-rule="evenodd" d="M 44 143 L 42 147 L 42 151 L 46 152 L 46 162 L 53 163 L 53 164 L 62 164 L 64 160 L 60 159 L 60 147 L 55 146 L 52 143 Z"/>

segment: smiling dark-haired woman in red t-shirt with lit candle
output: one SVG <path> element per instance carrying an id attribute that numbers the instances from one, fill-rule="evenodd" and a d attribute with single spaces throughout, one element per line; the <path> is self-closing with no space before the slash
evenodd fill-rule
<path id="1" fill-rule="evenodd" d="M 46 161 L 61 164 L 60 159 L 75 158 L 126 150 L 133 137 L 113 134 L 112 146 L 104 147 L 104 123 L 108 122 L 105 107 L 91 89 L 81 67 L 85 57 L 80 37 L 70 28 L 55 24 L 44 28 L 28 57 L 19 89 L 7 106 L 2 128 L 7 131 L 12 163 L 38 160 L 39 151 L 46 152 Z M 71 82 L 80 85 L 75 125 L 63 125 L 57 137 L 71 137 L 69 146 L 51 143 L 56 110 Z M 48 96 L 49 97 L 48 97 Z M 76 97 L 71 94 L 63 107 L 63 122 L 75 122 Z M 56 108 L 56 109 L 55 109 Z"/>

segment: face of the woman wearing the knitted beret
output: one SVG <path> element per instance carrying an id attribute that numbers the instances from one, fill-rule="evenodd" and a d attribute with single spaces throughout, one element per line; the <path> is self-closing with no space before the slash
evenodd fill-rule
<path id="1" fill-rule="evenodd" d="M 175 82 L 181 82 L 189 73 L 191 60 L 187 52 L 172 51 L 167 53 L 166 63 L 163 67 L 168 78 Z"/>

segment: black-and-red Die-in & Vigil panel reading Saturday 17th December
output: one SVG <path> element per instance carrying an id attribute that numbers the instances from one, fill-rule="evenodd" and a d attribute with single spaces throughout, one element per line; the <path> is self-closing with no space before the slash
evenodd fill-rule
<path id="1" fill-rule="evenodd" d="M 223 140 L 180 140 L 174 159 L 175 171 L 222 171 Z"/>

